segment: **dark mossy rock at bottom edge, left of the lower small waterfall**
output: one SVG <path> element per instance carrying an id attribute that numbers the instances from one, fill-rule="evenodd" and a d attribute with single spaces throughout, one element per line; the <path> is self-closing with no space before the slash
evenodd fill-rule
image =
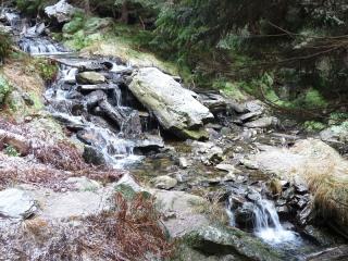
<path id="1" fill-rule="evenodd" d="M 285 260 L 260 239 L 235 227 L 202 226 L 186 235 L 184 240 L 208 256 L 234 253 L 237 260 L 241 257 L 259 261 Z"/>

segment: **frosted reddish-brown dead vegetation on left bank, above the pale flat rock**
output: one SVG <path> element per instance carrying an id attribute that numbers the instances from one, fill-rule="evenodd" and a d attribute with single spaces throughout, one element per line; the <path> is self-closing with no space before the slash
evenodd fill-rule
<path id="1" fill-rule="evenodd" d="M 48 142 L 48 140 L 53 140 L 48 134 L 42 134 L 42 137 L 33 137 L 23 124 L 3 120 L 0 120 L 0 128 L 22 135 L 29 144 L 35 145 L 30 149 L 34 159 L 32 156 L 8 157 L 0 152 L 0 162 L 2 162 L 0 188 L 25 183 L 53 190 L 66 190 L 72 189 L 71 185 L 65 183 L 69 177 L 86 176 L 105 184 L 116 182 L 123 174 L 108 166 L 87 164 L 82 157 L 82 151 L 67 140 Z M 46 141 L 42 142 L 44 140 Z"/>

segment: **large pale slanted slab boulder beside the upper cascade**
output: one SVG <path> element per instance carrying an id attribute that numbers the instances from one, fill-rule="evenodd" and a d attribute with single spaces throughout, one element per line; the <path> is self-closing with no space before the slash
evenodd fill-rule
<path id="1" fill-rule="evenodd" d="M 190 135 L 203 122 L 213 119 L 209 109 L 194 98 L 167 74 L 156 67 L 140 69 L 129 85 L 133 95 L 152 111 L 164 129 L 183 138 L 199 138 Z M 190 130 L 190 132 L 187 132 Z"/>

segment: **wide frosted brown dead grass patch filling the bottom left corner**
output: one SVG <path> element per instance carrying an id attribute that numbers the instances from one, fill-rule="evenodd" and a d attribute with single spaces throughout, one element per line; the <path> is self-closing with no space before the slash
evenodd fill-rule
<path id="1" fill-rule="evenodd" d="M 0 227 L 0 251 L 4 260 L 150 261 L 170 259 L 173 245 L 153 198 L 138 194 L 126 201 L 115 194 L 113 210 L 72 223 L 35 219 L 15 231 Z"/>

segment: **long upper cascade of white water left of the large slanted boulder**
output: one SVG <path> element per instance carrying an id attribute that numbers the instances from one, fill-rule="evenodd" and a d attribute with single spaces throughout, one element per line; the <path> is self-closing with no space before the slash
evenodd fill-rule
<path id="1" fill-rule="evenodd" d="M 101 154 L 105 163 L 116 169 L 139 162 L 144 158 L 141 153 L 135 153 L 139 148 L 163 146 L 158 132 L 159 125 L 149 127 L 153 119 L 150 114 L 140 119 L 138 110 L 133 108 L 135 99 L 120 86 L 121 74 L 132 70 L 130 64 L 78 58 L 41 36 L 45 25 L 30 26 L 15 12 L 4 12 L 2 16 L 14 30 L 23 51 L 32 55 L 49 55 L 59 61 L 57 79 L 45 94 L 47 110 L 73 130 L 73 137 L 91 146 L 96 154 Z M 91 101 L 88 99 L 92 90 L 79 91 L 78 88 L 90 87 L 76 83 L 76 75 L 84 71 L 98 71 L 107 77 L 107 88 L 105 84 L 95 86 L 95 90 L 102 90 L 104 94 L 104 98 L 99 100 L 104 105 L 104 111 L 100 111 L 101 105 L 90 107 Z M 114 119 L 115 115 L 119 119 Z M 113 121 L 120 119 L 121 123 Z"/>

